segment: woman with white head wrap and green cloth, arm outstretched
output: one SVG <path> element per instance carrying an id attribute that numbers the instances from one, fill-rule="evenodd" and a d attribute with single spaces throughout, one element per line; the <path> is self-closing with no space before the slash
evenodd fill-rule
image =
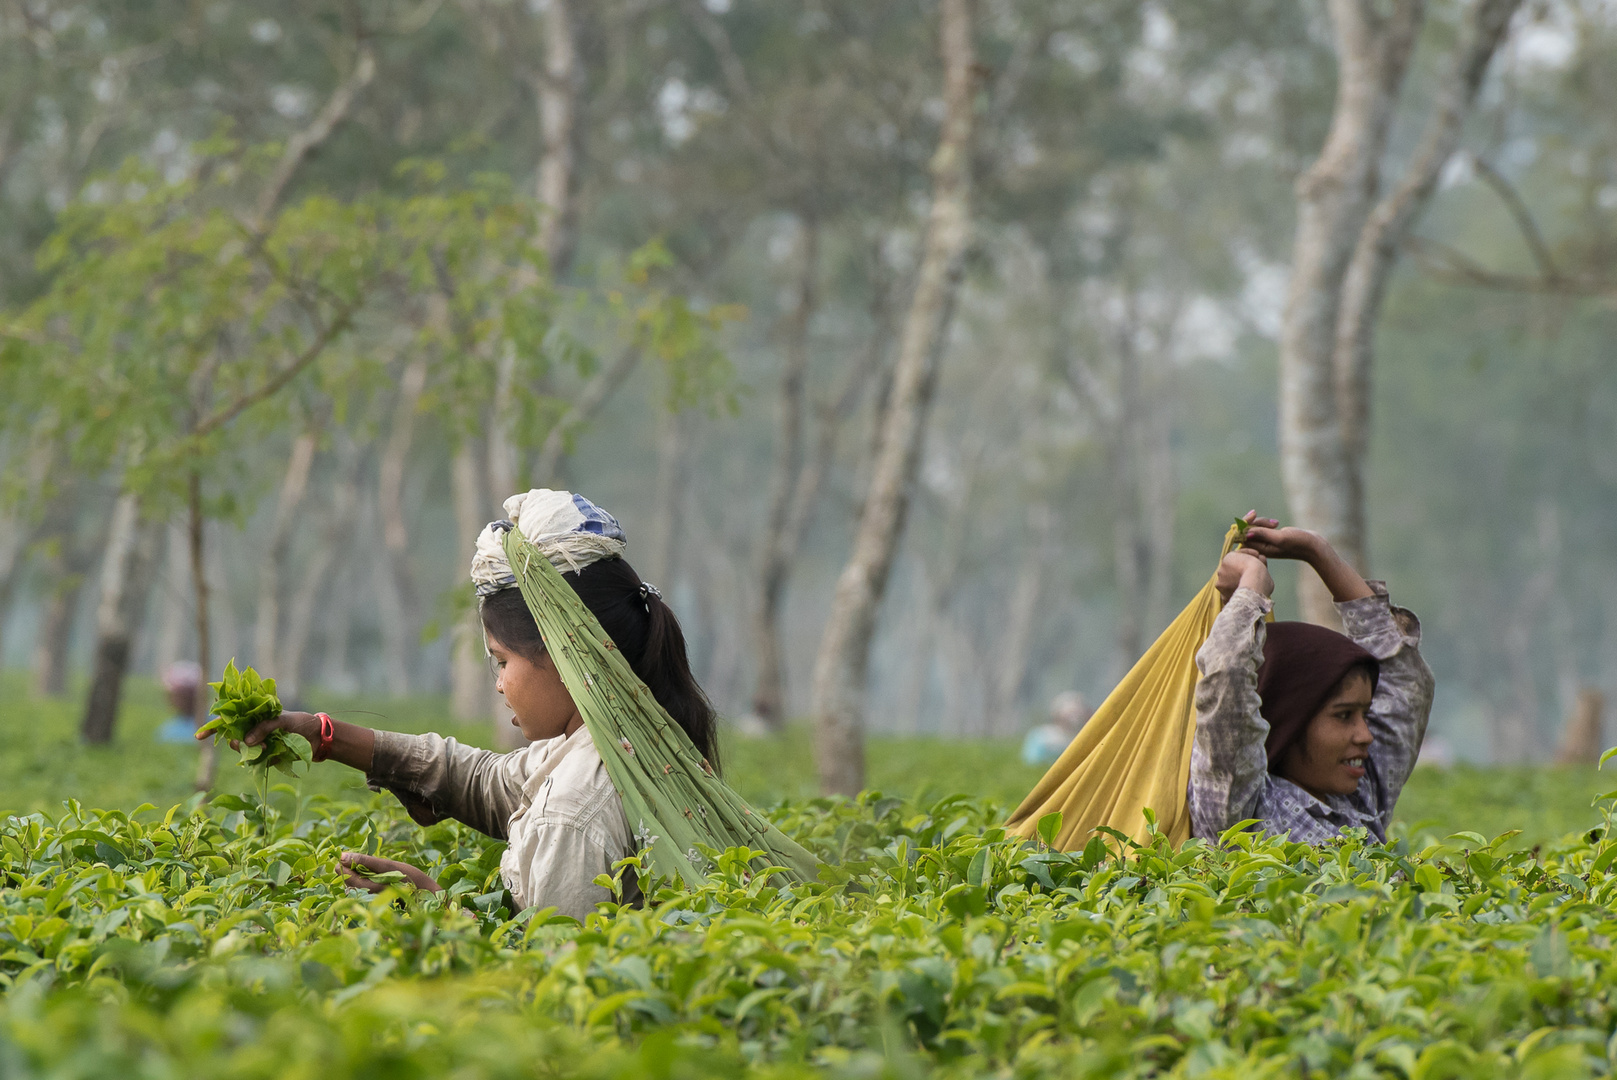
<path id="1" fill-rule="evenodd" d="M 519 910 L 582 920 L 611 899 L 595 878 L 642 849 L 658 873 L 687 884 L 705 871 L 699 846 L 749 846 L 789 878 L 813 876 L 813 857 L 720 779 L 713 707 L 674 613 L 624 561 L 618 521 L 581 495 L 543 488 L 505 509 L 509 521 L 477 538 L 472 582 L 495 689 L 527 747 L 495 753 L 325 713 L 283 713 L 247 742 L 285 728 L 309 739 L 314 760 L 364 770 L 419 825 L 454 818 L 506 841 L 500 875 Z M 354 871 L 364 867 L 438 889 L 395 860 L 344 852 L 341 862 L 354 888 L 380 888 Z M 624 896 L 639 901 L 632 875 Z"/>

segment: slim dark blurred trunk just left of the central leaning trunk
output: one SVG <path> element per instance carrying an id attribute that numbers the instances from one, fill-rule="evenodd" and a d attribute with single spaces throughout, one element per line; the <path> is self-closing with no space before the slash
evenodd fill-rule
<path id="1" fill-rule="evenodd" d="M 758 676 L 752 692 L 752 713 L 768 728 L 786 719 L 786 671 L 781 655 L 781 608 L 791 579 L 792 496 L 802 474 L 805 382 L 808 378 L 808 320 L 818 301 L 820 223 L 805 215 L 800 225 L 802 262 L 797 296 L 784 322 L 786 362 L 781 365 L 781 393 L 775 406 L 775 467 L 770 475 L 770 508 L 763 522 L 763 558 L 758 567 L 758 605 L 754 610 L 752 643 Z"/>

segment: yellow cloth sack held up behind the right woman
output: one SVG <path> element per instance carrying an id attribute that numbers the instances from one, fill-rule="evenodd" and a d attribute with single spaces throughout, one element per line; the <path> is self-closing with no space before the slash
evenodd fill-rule
<path id="1" fill-rule="evenodd" d="M 1219 559 L 1240 542 L 1224 535 Z M 1218 572 L 1145 656 L 1106 695 L 1090 721 L 1011 815 L 1006 829 L 1032 837 L 1040 818 L 1061 812 L 1054 846 L 1075 850 L 1109 826 L 1145 842 L 1145 810 L 1176 846 L 1190 837 L 1190 744 L 1197 734 L 1197 652 L 1224 606 Z"/>

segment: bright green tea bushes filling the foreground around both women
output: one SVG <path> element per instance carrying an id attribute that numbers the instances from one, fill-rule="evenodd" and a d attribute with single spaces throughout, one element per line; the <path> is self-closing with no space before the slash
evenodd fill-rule
<path id="1" fill-rule="evenodd" d="M 1059 854 L 999 808 L 775 812 L 839 865 L 584 926 L 505 907 L 500 847 L 396 805 L 0 823 L 0 1074 L 16 1077 L 1607 1072 L 1617 841 L 1421 850 L 1252 834 Z M 1609 823 L 1607 823 L 1609 825 Z M 346 892 L 343 849 L 443 897 Z"/>

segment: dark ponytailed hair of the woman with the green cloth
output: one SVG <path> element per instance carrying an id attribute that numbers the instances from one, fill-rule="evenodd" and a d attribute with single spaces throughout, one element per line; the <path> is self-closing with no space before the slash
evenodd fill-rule
<path id="1" fill-rule="evenodd" d="M 634 674 L 640 676 L 652 697 L 684 728 L 690 742 L 718 773 L 713 703 L 690 674 L 686 635 L 673 610 L 655 592 L 642 595 L 640 576 L 618 556 L 561 577 L 579 593 L 584 606 L 595 613 Z M 534 663 L 545 653 L 545 640 L 521 589 L 501 589 L 483 597 L 480 611 L 483 629 L 506 648 Z"/>

